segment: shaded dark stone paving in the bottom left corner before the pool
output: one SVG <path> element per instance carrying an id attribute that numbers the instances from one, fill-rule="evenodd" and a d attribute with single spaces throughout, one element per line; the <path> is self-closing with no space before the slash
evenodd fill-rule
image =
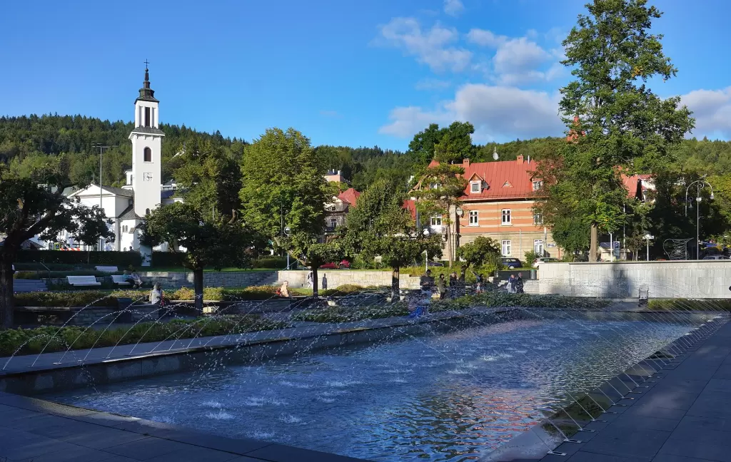
<path id="1" fill-rule="evenodd" d="M 10 393 L 0 393 L 0 431 L 0 459 L 12 461 L 363 461 Z"/>

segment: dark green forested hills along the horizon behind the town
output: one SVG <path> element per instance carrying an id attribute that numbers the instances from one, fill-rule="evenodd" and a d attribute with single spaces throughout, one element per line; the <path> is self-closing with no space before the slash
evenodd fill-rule
<path id="1" fill-rule="evenodd" d="M 105 149 L 103 181 L 121 185 L 124 170 L 132 166 L 132 145 L 129 132 L 132 122 L 110 122 L 82 115 L 31 115 L 0 118 L 0 161 L 23 157 L 31 153 L 67 153 L 72 158 L 72 169 L 88 172 L 94 179 L 99 172 L 99 148 L 94 144 L 112 146 Z M 165 139 L 162 143 L 163 177 L 170 178 L 170 158 L 183 142 L 199 138 L 229 150 L 235 158 L 244 155 L 243 139 L 224 138 L 215 134 L 195 131 L 186 126 L 162 124 Z M 414 136 L 406 153 L 383 150 L 379 147 L 319 146 L 325 154 L 330 169 L 341 170 L 352 186 L 364 190 L 376 179 L 387 179 L 406 185 L 414 168 L 423 166 L 433 153 L 436 138 L 447 128 L 430 126 Z M 307 134 L 304 134 L 305 136 Z M 430 136 L 432 137 L 430 139 Z M 469 150 L 473 162 L 493 161 L 493 151 L 499 160 L 512 160 L 517 155 L 539 159 L 548 150 L 556 150 L 564 142 L 563 137 L 516 140 L 502 144 L 477 145 Z M 679 147 L 683 169 L 708 174 L 726 174 L 731 171 L 731 142 L 688 139 Z"/>

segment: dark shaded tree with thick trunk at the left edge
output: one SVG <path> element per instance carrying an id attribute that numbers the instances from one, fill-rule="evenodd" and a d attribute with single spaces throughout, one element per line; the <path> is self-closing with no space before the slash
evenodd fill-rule
<path id="1" fill-rule="evenodd" d="M 27 239 L 39 235 L 55 241 L 58 233 L 69 231 L 85 243 L 110 239 L 114 234 L 98 207 L 86 207 L 64 196 L 64 189 L 83 188 L 83 182 L 69 177 L 65 156 L 31 155 L 0 163 L 0 315 L 2 325 L 13 324 L 12 263 Z"/>

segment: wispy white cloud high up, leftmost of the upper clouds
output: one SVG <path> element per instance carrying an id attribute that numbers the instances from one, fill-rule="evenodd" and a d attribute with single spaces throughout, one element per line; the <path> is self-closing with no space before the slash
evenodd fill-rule
<path id="1" fill-rule="evenodd" d="M 399 48 L 404 53 L 416 56 L 434 72 L 451 70 L 461 72 L 472 58 L 472 53 L 463 48 L 450 46 L 459 38 L 455 28 L 444 28 L 436 24 L 428 31 L 422 31 L 414 18 L 393 18 L 380 26 L 381 35 L 376 43 Z"/>

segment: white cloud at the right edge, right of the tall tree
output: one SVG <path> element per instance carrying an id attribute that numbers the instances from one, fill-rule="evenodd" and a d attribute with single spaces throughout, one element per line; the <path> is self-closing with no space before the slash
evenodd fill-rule
<path id="1" fill-rule="evenodd" d="M 691 91 L 681 96 L 681 104 L 693 111 L 694 136 L 731 138 L 731 87 Z"/>

